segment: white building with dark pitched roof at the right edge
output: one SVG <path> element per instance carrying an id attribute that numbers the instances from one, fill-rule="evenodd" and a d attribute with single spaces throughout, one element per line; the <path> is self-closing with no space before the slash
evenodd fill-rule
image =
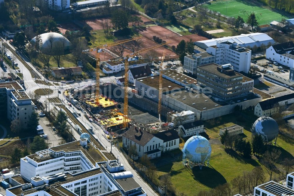
<path id="1" fill-rule="evenodd" d="M 294 43 L 289 41 L 266 49 L 266 59 L 294 68 Z"/>

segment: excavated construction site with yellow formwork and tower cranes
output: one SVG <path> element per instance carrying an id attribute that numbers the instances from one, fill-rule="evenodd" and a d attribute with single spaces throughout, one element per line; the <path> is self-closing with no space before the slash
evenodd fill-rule
<path id="1" fill-rule="evenodd" d="M 129 93 L 131 91 L 128 87 L 128 66 L 133 57 L 146 53 L 150 50 L 163 47 L 169 42 L 141 49 L 137 52 L 127 54 L 124 57 L 116 59 L 116 61 L 124 61 L 125 81 L 123 87 L 113 86 L 112 83 L 102 84 L 100 82 L 100 53 L 103 54 L 103 50 L 105 51 L 108 47 L 123 44 L 128 41 L 136 41 L 141 38 L 142 37 L 134 37 L 83 51 L 84 53 L 91 52 L 92 54 L 94 52 L 96 55 L 96 84 L 85 86 L 82 90 L 75 91 L 74 89 L 71 89 L 65 93 L 67 99 L 71 100 L 71 103 L 74 104 L 75 107 L 83 111 L 88 120 L 98 124 L 104 129 L 106 134 L 111 135 L 112 137 L 116 137 L 117 133 L 123 132 L 123 129 L 129 127 L 131 124 L 151 124 L 149 125 L 150 130 L 151 127 L 152 130 L 159 129 L 161 127 L 160 115 L 158 115 L 161 113 L 161 107 L 158 107 L 158 103 L 152 103 L 153 105 L 156 105 L 156 108 L 152 111 L 144 111 L 144 108 L 142 109 L 142 107 L 138 107 L 136 104 L 132 104 L 131 100 L 128 100 Z M 163 52 L 162 60 L 164 59 L 164 55 L 165 51 Z M 160 78 L 162 80 L 162 75 Z M 114 88 L 116 88 L 116 90 L 113 90 Z M 160 89 L 162 89 L 162 87 Z M 140 101 L 142 102 L 143 100 Z M 76 115 L 80 114 L 76 113 Z"/>

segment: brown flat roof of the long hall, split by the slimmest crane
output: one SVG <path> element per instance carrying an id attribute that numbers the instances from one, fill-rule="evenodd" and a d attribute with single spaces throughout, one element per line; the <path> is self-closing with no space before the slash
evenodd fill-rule
<path id="1" fill-rule="evenodd" d="M 142 82 L 143 84 L 146 84 L 149 87 L 153 87 L 153 88 L 159 90 L 159 76 L 147 77 L 147 78 L 140 79 L 140 80 L 137 80 L 137 81 Z M 166 88 L 168 88 L 169 91 L 172 90 L 172 89 L 182 88 L 182 86 L 180 86 L 180 85 L 178 85 L 178 84 L 176 84 L 174 82 L 171 82 L 171 81 L 169 81 L 168 79 L 165 79 L 165 78 L 162 78 L 162 87 L 163 87 L 162 92 L 165 92 Z"/>

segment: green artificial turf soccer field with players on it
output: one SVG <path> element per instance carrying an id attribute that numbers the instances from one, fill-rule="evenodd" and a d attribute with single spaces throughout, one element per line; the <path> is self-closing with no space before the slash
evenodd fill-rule
<path id="1" fill-rule="evenodd" d="M 220 1 L 211 4 L 205 4 L 203 5 L 203 7 L 207 7 L 210 10 L 217 11 L 220 12 L 220 14 L 234 18 L 240 16 L 244 19 L 245 22 L 248 16 L 250 15 L 250 12 L 254 11 L 259 25 L 269 24 L 274 20 L 281 21 L 282 18 L 288 19 L 288 17 L 285 15 L 244 1 Z"/>

